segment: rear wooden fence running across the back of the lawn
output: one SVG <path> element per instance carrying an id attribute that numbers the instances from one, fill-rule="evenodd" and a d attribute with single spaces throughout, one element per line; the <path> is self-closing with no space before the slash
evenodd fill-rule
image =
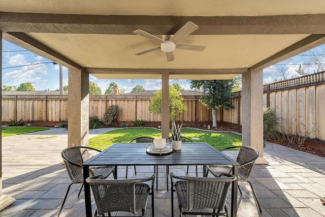
<path id="1" fill-rule="evenodd" d="M 42 122 L 68 121 L 68 95 L 3 95 L 2 121 L 10 119 Z M 160 115 L 149 111 L 152 96 L 90 96 L 89 116 L 103 121 L 106 109 L 118 105 L 119 122 L 143 119 L 148 122 L 161 121 Z M 212 112 L 200 102 L 200 96 L 183 96 L 187 106 L 182 119 L 186 122 L 212 121 Z"/>

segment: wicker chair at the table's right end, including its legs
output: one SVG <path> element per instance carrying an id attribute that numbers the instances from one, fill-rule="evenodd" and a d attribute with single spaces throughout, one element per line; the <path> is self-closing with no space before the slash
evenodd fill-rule
<path id="1" fill-rule="evenodd" d="M 220 151 L 229 150 L 238 148 L 238 146 L 232 146 L 228 148 L 224 148 Z M 247 181 L 250 185 L 250 188 L 252 189 L 252 193 L 254 195 L 254 198 L 256 200 L 259 212 L 262 213 L 261 205 L 259 205 L 256 192 L 253 188 L 253 184 L 248 180 L 249 175 L 254 167 L 255 161 L 258 158 L 258 151 L 255 148 L 249 147 L 249 146 L 240 146 L 238 156 L 237 156 L 237 162 L 239 163 L 238 168 L 238 181 Z M 231 166 L 207 166 L 207 172 L 211 172 L 214 176 L 219 176 L 220 173 L 229 173 L 232 174 L 233 170 Z M 238 189 L 240 194 L 242 194 L 242 191 L 238 185 Z"/>

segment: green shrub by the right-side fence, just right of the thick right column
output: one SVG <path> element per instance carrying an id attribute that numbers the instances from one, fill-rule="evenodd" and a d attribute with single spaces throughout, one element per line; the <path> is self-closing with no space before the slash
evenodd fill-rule
<path id="1" fill-rule="evenodd" d="M 263 109 L 263 133 L 264 138 L 272 138 L 277 135 L 279 126 L 279 118 L 276 116 L 275 109 Z"/>

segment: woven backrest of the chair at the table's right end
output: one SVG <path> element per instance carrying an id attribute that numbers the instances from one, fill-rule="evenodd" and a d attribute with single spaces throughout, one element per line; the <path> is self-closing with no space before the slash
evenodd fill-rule
<path id="1" fill-rule="evenodd" d="M 238 180 L 249 177 L 257 158 L 258 151 L 255 148 L 249 146 L 240 147 L 236 160 L 240 165 L 238 168 Z"/>

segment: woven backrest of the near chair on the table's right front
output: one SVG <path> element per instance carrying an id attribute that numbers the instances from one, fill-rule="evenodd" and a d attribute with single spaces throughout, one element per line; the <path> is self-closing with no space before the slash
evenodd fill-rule
<path id="1" fill-rule="evenodd" d="M 215 208 L 223 210 L 231 182 L 236 177 L 188 177 L 187 211 Z"/>

